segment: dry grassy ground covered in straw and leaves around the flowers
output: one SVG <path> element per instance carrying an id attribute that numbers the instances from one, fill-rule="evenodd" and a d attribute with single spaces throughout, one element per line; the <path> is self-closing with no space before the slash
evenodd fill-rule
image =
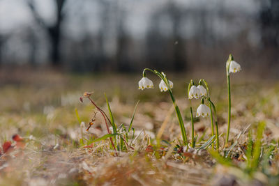
<path id="1" fill-rule="evenodd" d="M 240 75 L 241 76 L 241 75 Z M 170 75 L 190 139 L 190 109 L 185 91 L 190 78 Z M 65 75 L 56 72 L 1 72 L 0 143 L 12 146 L 0 156 L 0 185 L 277 185 L 279 86 L 232 78 L 231 141 L 225 147 L 227 89 L 225 79 L 209 79 L 211 100 L 216 103 L 220 130 L 220 156 L 213 148 L 197 150 L 211 137 L 209 118 L 195 119 L 196 149 L 182 148 L 181 133 L 167 93 L 160 93 L 158 78 L 150 75 L 154 89 L 137 90 L 141 75 Z M 225 78 L 225 77 L 224 77 Z M 197 81 L 197 80 L 196 80 Z M 84 91 L 107 115 L 106 93 L 114 120 L 128 127 L 133 121 L 131 148 L 110 140 L 91 143 L 107 134 L 102 115 Z M 193 109 L 199 101 L 193 101 Z M 77 118 L 78 112 L 81 125 Z M 86 132 L 96 112 L 96 121 Z M 248 167 L 248 133 L 257 146 L 257 129 L 264 122 L 259 164 Z M 133 132 L 132 132 L 133 133 Z M 24 141 L 12 139 L 19 134 Z M 160 136 L 160 140 L 156 137 Z M 83 137 L 83 142 L 80 140 Z M 117 140 L 116 138 L 116 144 Z M 160 145 L 158 145 L 160 144 Z M 255 151 L 255 150 L 254 150 Z M 269 153 L 271 151 L 271 153 Z M 255 152 L 254 152 L 255 153 Z M 213 155 L 211 155 L 213 154 Z M 265 157 L 264 155 L 269 156 Z M 226 156 L 227 159 L 222 159 Z M 255 156 L 255 155 L 254 155 Z M 267 162 L 267 163 L 266 163 Z M 251 171 L 252 170 L 252 171 Z"/>

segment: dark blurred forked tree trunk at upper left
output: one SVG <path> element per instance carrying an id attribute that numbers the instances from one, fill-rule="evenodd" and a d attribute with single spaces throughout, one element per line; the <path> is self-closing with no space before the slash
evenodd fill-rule
<path id="1" fill-rule="evenodd" d="M 50 38 L 50 61 L 52 65 L 59 66 L 61 65 L 61 54 L 60 54 L 60 43 L 61 43 L 61 24 L 63 22 L 63 6 L 66 3 L 66 0 L 55 0 L 56 6 L 56 15 L 55 22 L 52 25 L 47 25 L 45 21 L 40 17 L 36 6 L 34 5 L 33 0 L 27 1 L 31 13 L 35 18 L 36 22 L 42 26 L 43 29 L 47 32 L 47 36 Z"/>

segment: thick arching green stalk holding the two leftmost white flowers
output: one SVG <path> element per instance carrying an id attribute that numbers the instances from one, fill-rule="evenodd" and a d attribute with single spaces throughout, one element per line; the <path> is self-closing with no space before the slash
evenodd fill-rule
<path id="1" fill-rule="evenodd" d="M 183 144 L 186 145 L 187 144 L 187 135 L 186 135 L 186 130 L 184 127 L 184 123 L 183 123 L 183 119 L 181 116 L 181 112 L 179 110 L 179 107 L 177 106 L 175 99 L 174 99 L 174 95 L 172 94 L 172 89 L 169 87 L 169 80 L 167 79 L 167 77 L 165 77 L 164 75 L 162 75 L 160 72 L 158 72 L 157 70 L 151 70 L 150 68 L 145 68 L 144 71 L 142 72 L 142 76 L 146 77 L 146 70 L 149 70 L 150 72 L 153 72 L 155 75 L 158 75 L 158 77 L 160 77 L 160 79 L 162 79 L 165 84 L 167 85 L 168 91 L 169 91 L 169 95 L 172 98 L 172 103 L 174 104 L 174 109 L 176 111 L 176 116 L 179 120 L 179 126 L 180 126 L 180 130 L 181 130 L 181 134 L 182 134 L 182 139 L 183 139 Z"/>

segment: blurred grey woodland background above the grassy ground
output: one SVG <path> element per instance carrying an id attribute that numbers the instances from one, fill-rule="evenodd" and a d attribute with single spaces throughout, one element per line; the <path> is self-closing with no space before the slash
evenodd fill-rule
<path id="1" fill-rule="evenodd" d="M 0 0 L 0 68 L 278 78 L 278 45 L 278 0 Z"/>

